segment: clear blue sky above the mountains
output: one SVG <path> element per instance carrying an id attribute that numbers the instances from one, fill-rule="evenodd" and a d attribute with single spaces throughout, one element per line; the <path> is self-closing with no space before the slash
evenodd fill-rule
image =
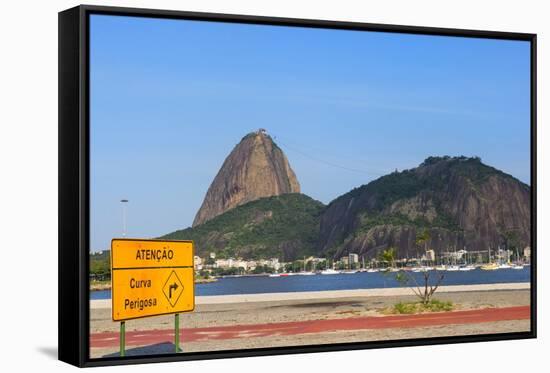
<path id="1" fill-rule="evenodd" d="M 91 249 L 191 225 L 266 128 L 324 203 L 431 155 L 528 183 L 529 44 L 93 15 Z"/>

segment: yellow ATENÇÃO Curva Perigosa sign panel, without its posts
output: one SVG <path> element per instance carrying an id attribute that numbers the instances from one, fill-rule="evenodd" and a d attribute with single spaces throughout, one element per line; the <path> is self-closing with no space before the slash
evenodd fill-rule
<path id="1" fill-rule="evenodd" d="M 194 274 L 191 241 L 112 240 L 113 320 L 193 311 Z"/>

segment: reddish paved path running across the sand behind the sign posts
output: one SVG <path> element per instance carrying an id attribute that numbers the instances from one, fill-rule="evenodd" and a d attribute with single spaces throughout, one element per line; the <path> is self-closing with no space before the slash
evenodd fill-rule
<path id="1" fill-rule="evenodd" d="M 184 344 L 194 341 L 323 333 L 341 330 L 416 328 L 449 324 L 475 324 L 507 320 L 524 320 L 530 318 L 530 313 L 531 309 L 529 306 L 519 306 L 420 315 L 350 317 L 345 319 L 192 328 L 180 329 L 180 340 L 181 343 Z M 116 332 L 95 333 L 92 334 L 90 338 L 90 344 L 92 348 L 114 347 L 119 344 L 118 338 L 119 336 Z M 172 342 L 173 340 L 173 329 L 126 332 L 126 346 L 145 346 L 162 342 Z"/>

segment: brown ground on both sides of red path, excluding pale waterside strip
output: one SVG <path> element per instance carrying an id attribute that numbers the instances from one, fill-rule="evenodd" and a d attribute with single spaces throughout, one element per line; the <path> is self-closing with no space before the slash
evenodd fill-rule
<path id="1" fill-rule="evenodd" d="M 437 299 L 452 301 L 457 309 L 512 307 L 529 305 L 529 290 L 492 290 L 437 294 Z M 198 328 L 225 325 L 266 324 L 288 321 L 335 319 L 358 316 L 380 316 L 380 311 L 401 301 L 414 301 L 410 297 L 373 296 L 339 299 L 311 299 L 292 301 L 267 301 L 250 303 L 202 304 L 193 313 L 181 314 L 182 328 Z M 169 329 L 173 316 L 158 316 L 126 322 L 126 330 L 142 331 Z M 118 331 L 119 324 L 111 321 L 109 308 L 92 308 L 91 333 Z M 477 324 L 443 325 L 418 328 L 391 328 L 377 330 L 337 331 L 293 336 L 269 336 L 257 338 L 196 341 L 182 345 L 183 352 L 234 350 L 261 347 L 299 346 L 326 343 L 364 342 L 426 338 L 456 335 L 476 335 L 529 331 L 529 320 L 486 322 Z M 129 348 L 127 354 L 172 353 L 170 343 L 155 346 Z M 92 348 L 92 357 L 116 355 L 117 348 Z"/>

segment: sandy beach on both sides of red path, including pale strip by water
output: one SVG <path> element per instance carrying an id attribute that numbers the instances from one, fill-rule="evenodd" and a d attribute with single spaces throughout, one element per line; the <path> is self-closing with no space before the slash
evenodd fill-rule
<path id="1" fill-rule="evenodd" d="M 456 310 L 505 308 L 530 304 L 529 284 L 492 284 L 445 286 L 437 299 L 452 301 Z M 224 295 L 196 298 L 194 312 L 181 314 L 184 329 L 273 324 L 354 317 L 384 317 L 381 311 L 397 302 L 415 301 L 410 289 L 368 289 L 308 293 Z M 119 323 L 111 320 L 110 300 L 90 302 L 92 334 L 118 332 Z M 166 330 L 173 327 L 173 316 L 157 316 L 126 322 L 127 332 Z M 296 346 L 319 343 L 423 338 L 528 331 L 529 320 L 506 320 L 462 325 L 437 325 L 418 328 L 345 330 L 315 334 L 270 335 L 227 340 L 198 340 L 182 343 L 184 352 L 240 348 Z M 185 341 L 185 336 L 182 337 Z M 137 347 L 137 348 L 136 348 Z M 157 346 L 128 346 L 128 354 L 172 352 L 170 341 Z M 92 357 L 116 354 L 117 347 L 91 348 Z"/>

